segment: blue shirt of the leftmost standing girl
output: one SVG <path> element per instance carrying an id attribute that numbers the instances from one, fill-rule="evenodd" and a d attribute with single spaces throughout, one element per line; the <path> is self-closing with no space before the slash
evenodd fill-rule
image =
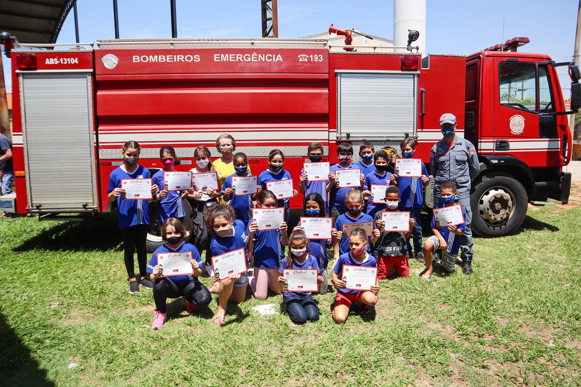
<path id="1" fill-rule="evenodd" d="M 111 193 L 115 188 L 121 188 L 121 179 L 148 179 L 151 174 L 142 166 L 131 174 L 125 172 L 121 167 L 113 170 L 109 176 L 109 188 L 107 193 Z M 155 183 L 154 183 L 155 184 Z M 148 199 L 121 199 L 117 196 L 117 219 L 119 220 L 119 230 L 137 224 L 149 224 L 149 200 Z"/>

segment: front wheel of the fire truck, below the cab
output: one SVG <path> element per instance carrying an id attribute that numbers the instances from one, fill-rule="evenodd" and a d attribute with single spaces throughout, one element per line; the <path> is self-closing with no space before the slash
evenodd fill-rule
<path id="1" fill-rule="evenodd" d="M 483 238 L 510 235 L 525 220 L 528 196 L 512 175 L 492 172 L 477 177 L 470 196 L 472 230 Z"/>

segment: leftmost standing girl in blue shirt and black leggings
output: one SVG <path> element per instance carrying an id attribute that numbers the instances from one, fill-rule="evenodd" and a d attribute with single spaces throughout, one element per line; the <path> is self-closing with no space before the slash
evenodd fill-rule
<path id="1" fill-rule="evenodd" d="M 109 201 L 117 202 L 117 218 L 119 219 L 119 230 L 123 237 L 123 256 L 127 277 L 129 281 L 129 292 L 138 293 L 139 285 L 146 288 L 153 288 L 153 283 L 146 277 L 147 251 L 145 250 L 145 240 L 149 228 L 149 205 L 148 199 L 125 199 L 125 189 L 121 188 L 121 179 L 148 179 L 151 178 L 149 171 L 138 165 L 141 146 L 135 141 L 127 141 L 121 148 L 123 154 L 123 165 L 113 170 L 109 177 Z M 159 191 L 157 185 L 151 185 L 153 201 L 157 200 L 155 194 Z M 135 278 L 135 266 L 133 253 L 137 251 L 137 263 L 139 264 L 139 281 Z"/>

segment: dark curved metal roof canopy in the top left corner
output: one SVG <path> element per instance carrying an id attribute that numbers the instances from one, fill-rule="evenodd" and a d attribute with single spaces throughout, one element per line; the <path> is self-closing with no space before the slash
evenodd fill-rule
<path id="1" fill-rule="evenodd" d="M 0 30 L 19 42 L 55 43 L 74 0 L 0 0 Z"/>

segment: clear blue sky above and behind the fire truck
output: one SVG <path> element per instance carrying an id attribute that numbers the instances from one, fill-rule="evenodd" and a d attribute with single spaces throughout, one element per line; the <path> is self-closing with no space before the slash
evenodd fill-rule
<path id="1" fill-rule="evenodd" d="M 118 0 L 121 38 L 171 37 L 168 0 Z M 81 42 L 114 38 L 113 1 L 78 0 Z M 519 51 L 541 52 L 557 61 L 572 58 L 576 0 L 486 2 L 427 0 L 426 52 L 469 55 L 515 36 L 530 44 Z M 393 39 L 393 1 L 278 0 L 279 37 L 302 37 L 328 30 L 355 28 Z M 259 37 L 260 0 L 177 0 L 178 37 Z M 75 41 L 74 16 L 69 13 L 58 42 Z M 6 59 L 6 58 L 5 58 Z M 8 60 L 4 60 L 8 76 Z M 569 96 L 566 67 L 559 70 L 565 98 Z M 10 91 L 10 78 L 6 79 Z"/>

